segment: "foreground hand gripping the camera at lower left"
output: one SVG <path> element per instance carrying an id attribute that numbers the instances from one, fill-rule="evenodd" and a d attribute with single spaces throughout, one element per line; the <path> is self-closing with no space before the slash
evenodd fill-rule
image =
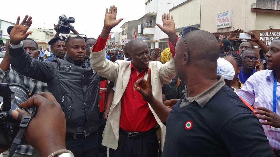
<path id="1" fill-rule="evenodd" d="M 25 109 L 38 107 L 36 116 L 31 119 L 25 131 L 25 137 L 42 157 L 49 156 L 57 150 L 66 149 L 65 115 L 51 93 L 43 92 L 33 95 L 19 106 Z M 21 121 L 24 116 L 29 116 L 29 113 L 17 109 L 12 112 L 12 116 Z"/>

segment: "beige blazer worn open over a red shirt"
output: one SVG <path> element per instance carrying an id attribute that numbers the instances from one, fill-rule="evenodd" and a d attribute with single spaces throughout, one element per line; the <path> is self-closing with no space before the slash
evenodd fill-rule
<path id="1" fill-rule="evenodd" d="M 92 48 L 90 48 L 90 51 L 91 49 Z M 115 83 L 116 90 L 107 118 L 106 126 L 102 134 L 102 145 L 112 149 L 117 149 L 119 141 L 119 121 L 121 116 L 121 97 L 123 96 L 123 93 L 129 82 L 131 62 L 117 60 L 115 63 L 113 63 L 106 59 L 105 53 L 105 49 L 99 52 L 91 51 L 90 62 L 92 69 L 96 71 L 99 76 L 102 76 Z M 170 83 L 172 78 L 176 75 L 173 58 L 171 58 L 170 62 L 166 62 L 165 64 L 161 64 L 159 61 L 150 62 L 149 68 L 151 68 L 153 95 L 155 98 L 162 101 L 162 85 Z M 147 77 L 148 74 L 146 73 L 144 78 L 147 79 Z M 165 125 L 161 123 L 159 117 L 152 109 L 151 105 L 148 105 L 161 128 L 161 140 L 163 148 L 166 131 Z"/>

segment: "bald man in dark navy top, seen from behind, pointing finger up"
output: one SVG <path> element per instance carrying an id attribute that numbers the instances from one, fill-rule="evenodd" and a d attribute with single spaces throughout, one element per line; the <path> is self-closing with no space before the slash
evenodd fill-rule
<path id="1" fill-rule="evenodd" d="M 172 110 L 153 97 L 150 69 L 147 81 L 134 86 L 166 123 L 162 156 L 273 156 L 257 117 L 216 73 L 220 48 L 213 34 L 189 27 L 182 35 L 174 64 L 187 88 Z"/>

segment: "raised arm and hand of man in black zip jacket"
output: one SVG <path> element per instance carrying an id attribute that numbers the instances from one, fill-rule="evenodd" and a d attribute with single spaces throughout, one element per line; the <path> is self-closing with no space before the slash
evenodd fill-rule
<path id="1" fill-rule="evenodd" d="M 19 24 L 20 17 L 10 33 L 9 59 L 12 68 L 30 78 L 37 79 L 42 82 L 48 82 L 53 79 L 54 69 L 58 68 L 55 62 L 42 62 L 29 57 L 29 54 L 23 48 L 23 40 L 27 38 L 31 32 L 27 32 L 31 26 L 31 17 L 25 16 L 22 23 Z M 25 26 L 24 26 L 25 25 Z"/>

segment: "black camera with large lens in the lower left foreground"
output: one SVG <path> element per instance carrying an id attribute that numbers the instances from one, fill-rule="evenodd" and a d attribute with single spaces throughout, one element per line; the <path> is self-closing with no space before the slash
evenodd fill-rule
<path id="1" fill-rule="evenodd" d="M 22 109 L 30 114 L 35 109 L 23 109 L 19 104 L 26 101 L 31 93 L 23 85 L 0 83 L 0 148 L 11 146 L 22 123 L 14 119 L 12 111 Z M 27 144 L 25 139 L 21 144 Z"/>

